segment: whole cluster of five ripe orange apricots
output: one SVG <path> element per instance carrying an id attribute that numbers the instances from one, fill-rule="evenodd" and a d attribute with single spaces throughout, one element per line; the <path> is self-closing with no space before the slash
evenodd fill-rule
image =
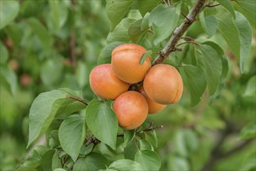
<path id="1" fill-rule="evenodd" d="M 139 127 L 148 113 L 158 113 L 167 104 L 179 101 L 183 92 L 180 73 L 171 65 L 151 67 L 151 56 L 140 65 L 147 50 L 137 44 L 122 44 L 112 51 L 111 64 L 98 65 L 90 73 L 90 86 L 102 99 L 115 100 L 113 110 L 119 126 Z M 128 91 L 130 84 L 144 80 L 139 92 Z"/>

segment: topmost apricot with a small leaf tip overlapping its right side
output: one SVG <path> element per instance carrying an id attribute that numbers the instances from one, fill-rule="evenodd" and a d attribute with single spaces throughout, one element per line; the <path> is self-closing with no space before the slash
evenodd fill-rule
<path id="1" fill-rule="evenodd" d="M 112 51 L 112 69 L 124 82 L 137 83 L 151 68 L 151 56 L 140 65 L 140 58 L 147 50 L 137 44 L 121 44 Z"/>

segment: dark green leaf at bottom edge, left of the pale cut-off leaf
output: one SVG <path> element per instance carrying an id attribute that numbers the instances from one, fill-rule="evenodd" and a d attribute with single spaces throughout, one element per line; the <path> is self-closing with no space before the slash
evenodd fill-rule
<path id="1" fill-rule="evenodd" d="M 97 153 L 91 152 L 85 158 L 78 159 L 74 166 L 73 171 L 80 171 L 80 170 L 95 170 L 98 171 L 99 169 L 106 169 L 109 165 L 108 159 L 105 156 Z"/>

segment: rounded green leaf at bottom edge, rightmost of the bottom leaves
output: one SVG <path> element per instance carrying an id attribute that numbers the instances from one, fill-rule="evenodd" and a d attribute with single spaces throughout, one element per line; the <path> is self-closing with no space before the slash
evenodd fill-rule
<path id="1" fill-rule="evenodd" d="M 134 160 L 140 163 L 145 170 L 159 170 L 161 167 L 160 157 L 156 152 L 150 150 L 138 151 Z"/>

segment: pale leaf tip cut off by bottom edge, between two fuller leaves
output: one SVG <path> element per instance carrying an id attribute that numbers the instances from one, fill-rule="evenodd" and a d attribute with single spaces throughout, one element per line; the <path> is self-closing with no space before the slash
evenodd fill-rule
<path id="1" fill-rule="evenodd" d="M 143 166 L 140 165 L 140 163 L 135 162 L 130 159 L 119 159 L 115 162 L 112 162 L 110 166 L 108 166 L 107 170 L 119 170 L 119 171 L 135 171 L 135 170 L 145 170 Z"/>

